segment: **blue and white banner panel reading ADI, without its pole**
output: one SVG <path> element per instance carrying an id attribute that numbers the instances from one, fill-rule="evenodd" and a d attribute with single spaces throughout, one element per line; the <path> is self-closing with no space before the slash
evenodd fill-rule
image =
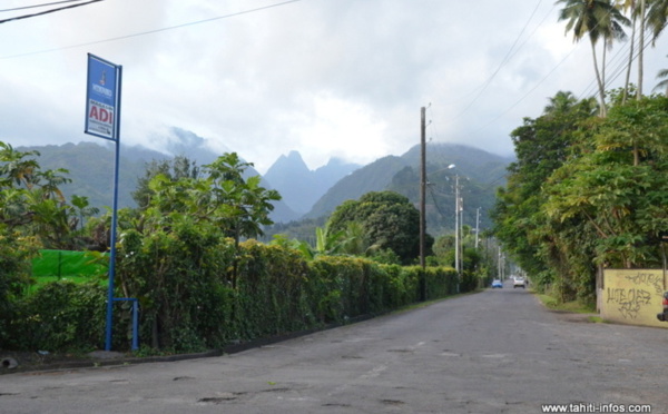
<path id="1" fill-rule="evenodd" d="M 120 103 L 120 67 L 88 55 L 86 134 L 116 140 Z"/>

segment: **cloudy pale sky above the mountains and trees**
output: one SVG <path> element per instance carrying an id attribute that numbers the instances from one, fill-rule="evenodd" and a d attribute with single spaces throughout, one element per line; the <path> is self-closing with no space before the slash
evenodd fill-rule
<path id="1" fill-rule="evenodd" d="M 0 20 L 76 4 L 6 11 L 50 1 L 1 0 Z M 430 142 L 510 156 L 510 132 L 549 97 L 596 92 L 589 41 L 573 42 L 559 9 L 553 0 L 105 0 L 7 21 L 0 141 L 105 144 L 84 132 L 92 53 L 122 66 L 120 145 L 165 150 L 177 127 L 262 174 L 292 150 L 311 169 L 332 157 L 369 164 L 419 145 L 425 107 Z M 646 92 L 668 68 L 666 46 L 646 50 Z M 607 53 L 609 88 L 623 85 L 628 47 Z"/>

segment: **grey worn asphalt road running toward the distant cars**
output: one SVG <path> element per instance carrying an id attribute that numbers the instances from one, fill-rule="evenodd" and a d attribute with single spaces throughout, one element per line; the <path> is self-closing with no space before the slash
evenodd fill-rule
<path id="1" fill-rule="evenodd" d="M 668 413 L 667 379 L 668 331 L 552 313 L 507 282 L 234 355 L 2 375 L 0 413 Z"/>

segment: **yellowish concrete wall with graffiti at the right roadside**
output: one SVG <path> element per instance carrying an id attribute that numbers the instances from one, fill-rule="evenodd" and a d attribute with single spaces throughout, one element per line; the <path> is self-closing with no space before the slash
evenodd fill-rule
<path id="1" fill-rule="evenodd" d="M 657 319 L 666 290 L 662 269 L 605 269 L 599 289 L 601 317 L 622 324 L 668 328 Z"/>

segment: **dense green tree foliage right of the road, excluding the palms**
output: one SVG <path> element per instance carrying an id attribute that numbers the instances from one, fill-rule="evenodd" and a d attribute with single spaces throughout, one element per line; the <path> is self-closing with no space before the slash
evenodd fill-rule
<path id="1" fill-rule="evenodd" d="M 563 300 L 593 300 L 598 266 L 660 265 L 668 229 L 668 99 L 617 101 L 607 118 L 590 108 L 513 131 L 518 162 L 493 214 L 505 250 Z"/>

